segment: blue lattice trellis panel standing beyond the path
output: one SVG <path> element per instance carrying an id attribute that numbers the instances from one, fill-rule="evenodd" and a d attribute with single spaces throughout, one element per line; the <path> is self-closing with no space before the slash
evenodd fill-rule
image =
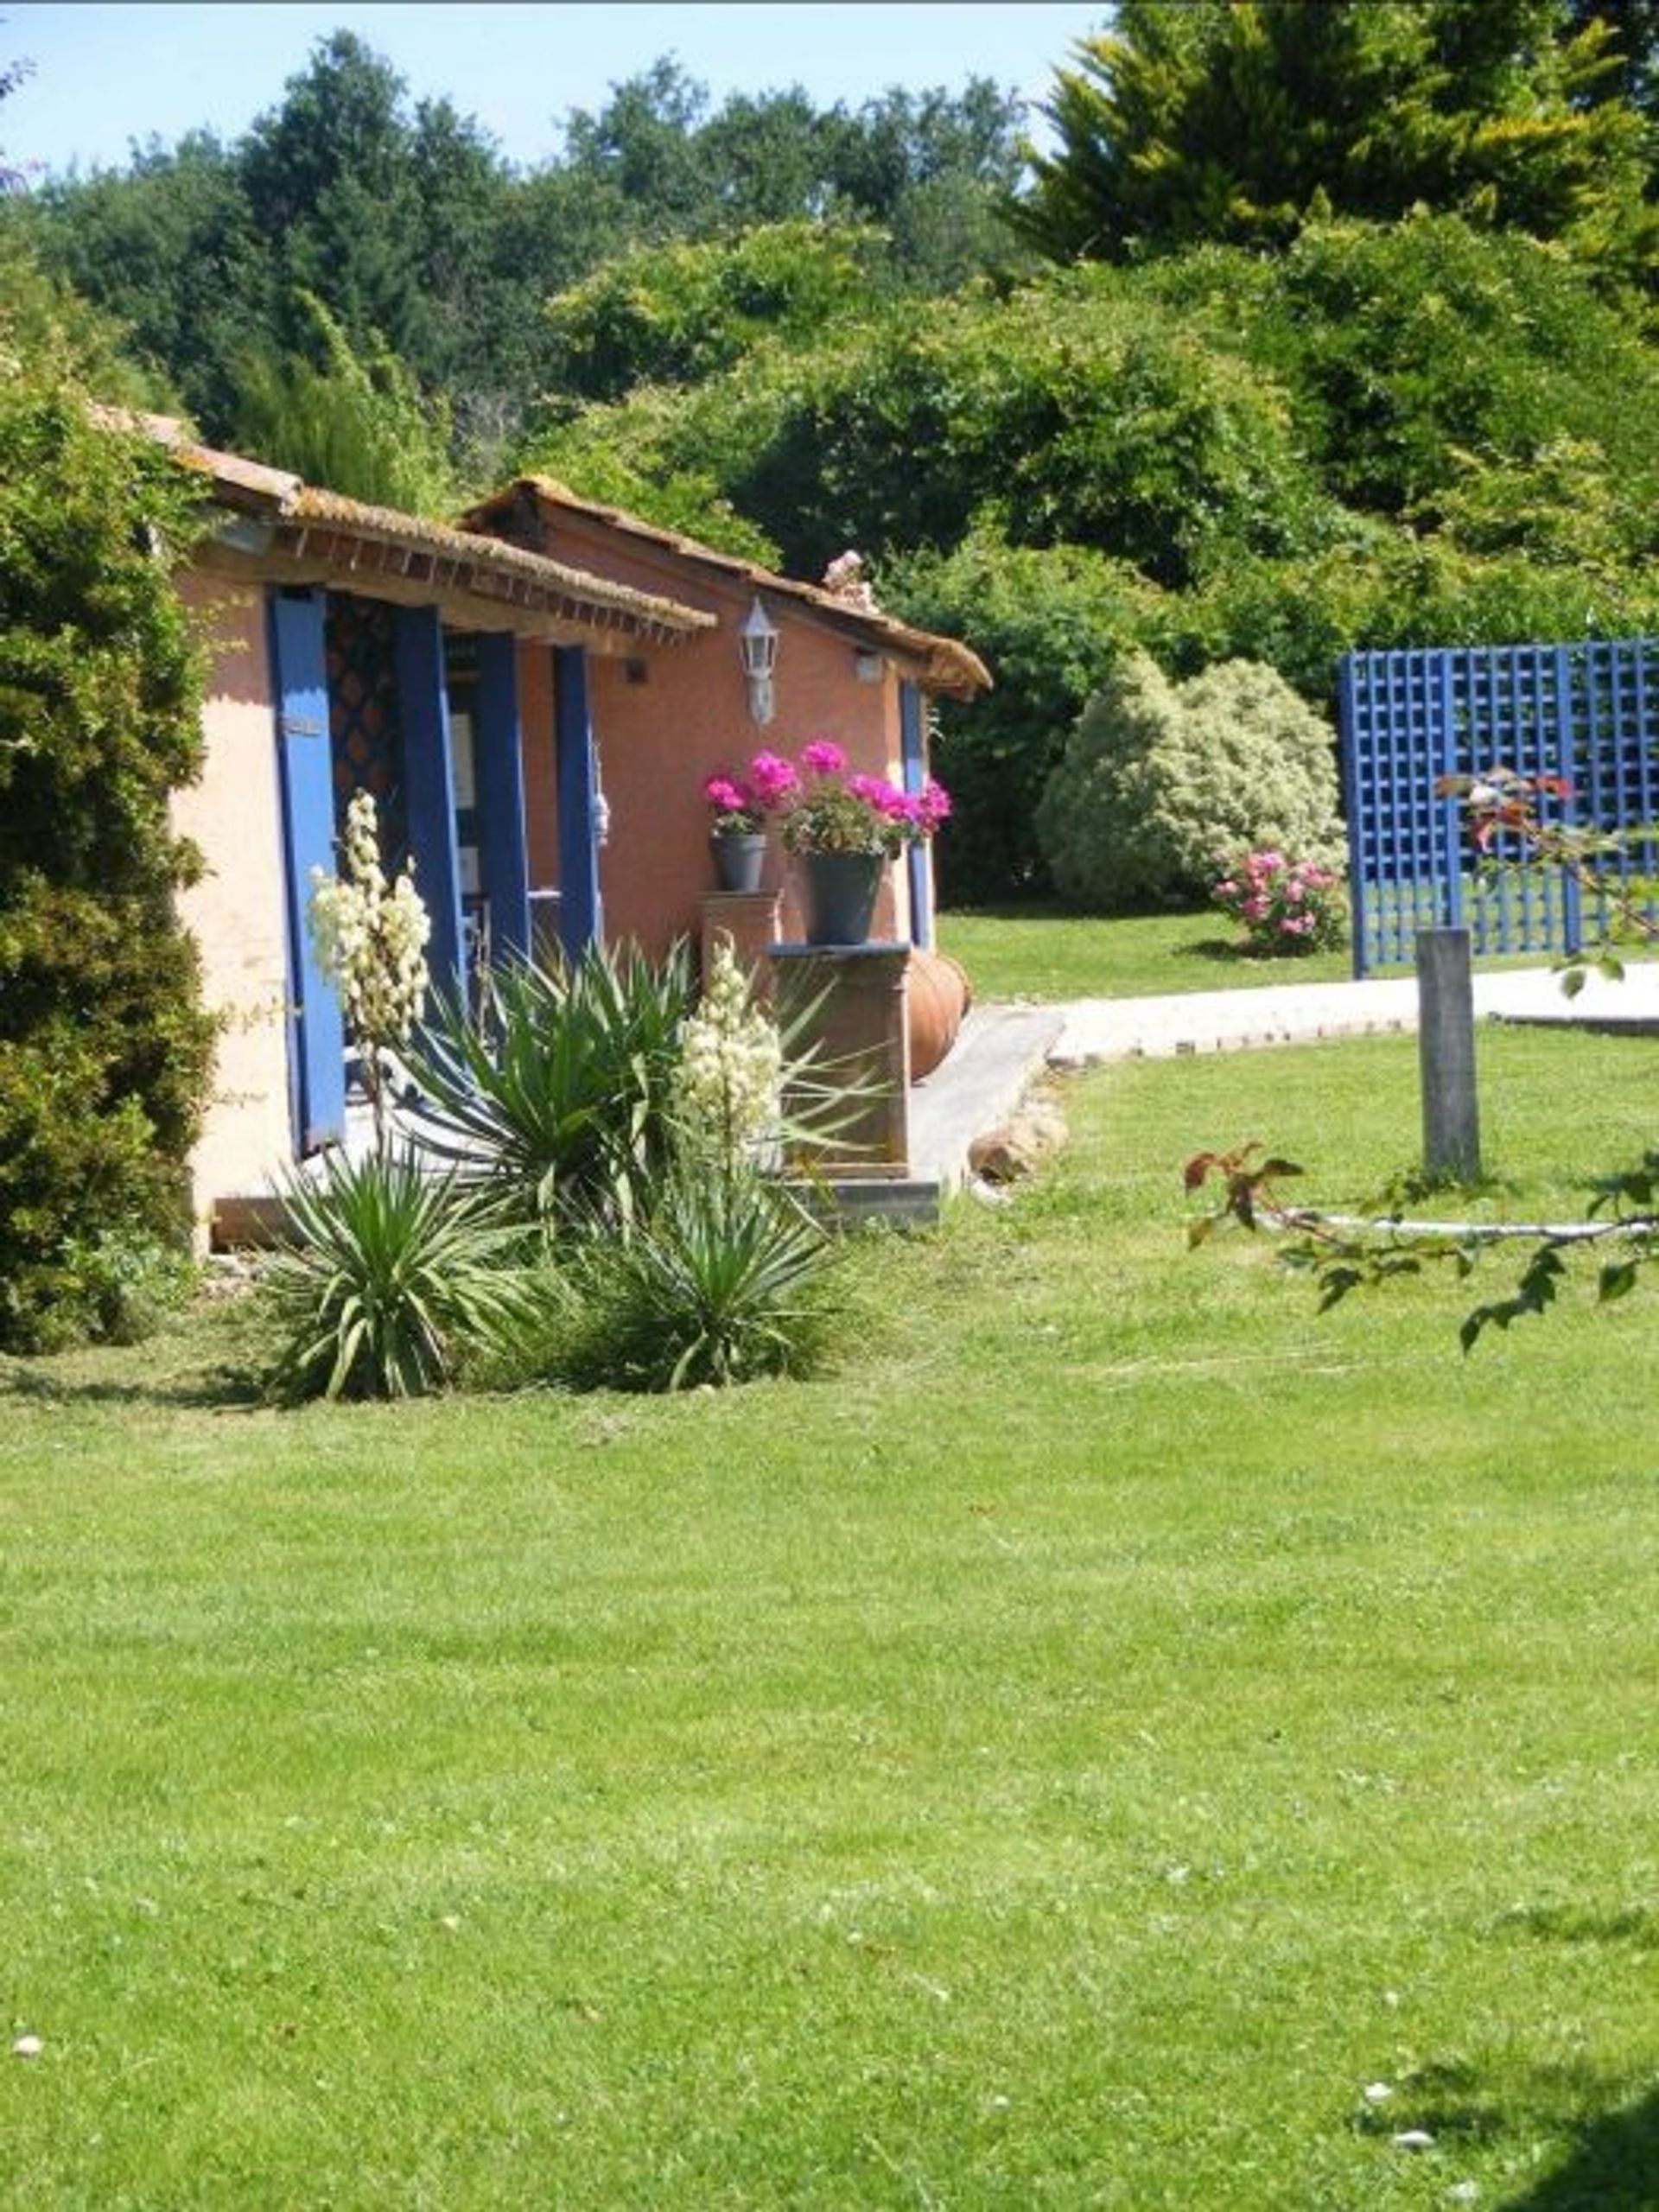
<path id="1" fill-rule="evenodd" d="M 1613 867 L 1637 889 L 1655 876 L 1657 639 L 1349 653 L 1340 719 L 1358 975 L 1409 964 L 1436 925 L 1467 927 L 1478 953 L 1575 951 L 1608 925 L 1559 869 L 1475 869 L 1442 776 L 1562 776 L 1546 816 L 1621 832 Z M 1500 841 L 1495 858 L 1520 854 Z"/>

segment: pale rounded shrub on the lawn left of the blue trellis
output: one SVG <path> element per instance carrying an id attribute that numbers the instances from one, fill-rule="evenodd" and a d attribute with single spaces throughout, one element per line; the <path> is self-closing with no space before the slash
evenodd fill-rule
<path id="1" fill-rule="evenodd" d="M 1332 732 L 1256 661 L 1170 684 L 1130 655 L 1084 710 L 1037 834 L 1060 891 L 1102 914 L 1203 898 L 1217 852 L 1338 863 Z"/>

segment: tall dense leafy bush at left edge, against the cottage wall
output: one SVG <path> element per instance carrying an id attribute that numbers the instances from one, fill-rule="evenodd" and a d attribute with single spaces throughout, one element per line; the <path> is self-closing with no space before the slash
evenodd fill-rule
<path id="1" fill-rule="evenodd" d="M 0 307 L 0 1343 L 113 1321 L 86 1254 L 177 1239 L 210 1024 L 173 894 L 201 661 L 181 471 Z M 119 1305 L 119 1301 L 117 1301 Z"/>

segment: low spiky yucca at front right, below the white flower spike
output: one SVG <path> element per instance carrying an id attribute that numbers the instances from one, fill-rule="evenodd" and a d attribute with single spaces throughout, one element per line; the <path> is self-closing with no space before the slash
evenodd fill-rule
<path id="1" fill-rule="evenodd" d="M 679 1166 L 628 1237 L 580 1248 L 564 1374 L 644 1391 L 807 1374 L 830 1340 L 832 1261 L 825 1230 L 779 1183 Z"/>

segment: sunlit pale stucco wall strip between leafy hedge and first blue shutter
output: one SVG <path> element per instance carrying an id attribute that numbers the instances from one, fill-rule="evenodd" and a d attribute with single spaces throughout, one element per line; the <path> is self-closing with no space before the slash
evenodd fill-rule
<path id="1" fill-rule="evenodd" d="M 177 830 L 206 860 L 179 909 L 201 947 L 208 1009 L 221 1018 L 192 1159 L 197 1219 L 206 1221 L 212 1199 L 261 1190 L 292 1146 L 283 832 L 263 593 L 201 575 L 186 575 L 179 593 L 212 641 L 206 763 L 173 803 Z"/>

